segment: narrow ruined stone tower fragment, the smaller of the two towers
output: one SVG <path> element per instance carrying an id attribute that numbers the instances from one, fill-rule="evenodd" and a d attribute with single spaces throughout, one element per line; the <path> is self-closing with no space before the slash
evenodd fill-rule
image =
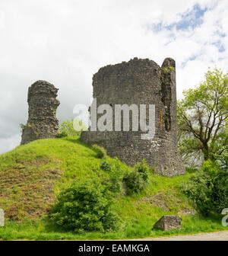
<path id="1" fill-rule="evenodd" d="M 27 102 L 29 117 L 23 127 L 21 145 L 36 139 L 55 138 L 59 121 L 56 110 L 59 101 L 56 99 L 59 89 L 46 81 L 36 81 L 28 89 Z"/>

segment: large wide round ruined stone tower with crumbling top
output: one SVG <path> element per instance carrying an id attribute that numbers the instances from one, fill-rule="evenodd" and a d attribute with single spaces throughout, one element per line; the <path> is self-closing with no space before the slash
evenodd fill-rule
<path id="1" fill-rule="evenodd" d="M 153 139 L 141 139 L 144 133 L 141 130 L 88 130 L 81 133 L 81 141 L 105 147 L 108 155 L 128 165 L 145 158 L 157 174 L 185 173 L 177 149 L 176 65 L 173 59 L 165 59 L 161 67 L 150 59 L 138 58 L 105 66 L 93 75 L 94 98 L 97 98 L 97 107 L 100 104 L 109 104 L 112 108 L 116 104 L 154 104 L 155 135 Z M 99 117 L 97 114 L 97 119 Z M 114 127 L 115 123 L 112 125 Z"/>

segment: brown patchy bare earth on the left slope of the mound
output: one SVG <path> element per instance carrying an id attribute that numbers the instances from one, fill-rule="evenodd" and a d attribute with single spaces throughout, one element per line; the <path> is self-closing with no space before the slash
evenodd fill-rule
<path id="1" fill-rule="evenodd" d="M 53 163 L 58 167 L 48 167 Z M 53 187 L 62 177 L 61 162 L 53 158 L 35 158 L 0 172 L 0 208 L 9 219 L 30 219 L 47 213 L 55 201 Z M 47 165 L 47 166 L 46 166 Z"/>

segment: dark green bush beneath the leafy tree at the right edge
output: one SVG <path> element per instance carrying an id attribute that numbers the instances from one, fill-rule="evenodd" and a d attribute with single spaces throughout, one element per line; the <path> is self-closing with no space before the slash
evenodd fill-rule
<path id="1" fill-rule="evenodd" d="M 204 162 L 181 188 L 204 216 L 221 213 L 228 206 L 228 172 L 211 160 Z"/>

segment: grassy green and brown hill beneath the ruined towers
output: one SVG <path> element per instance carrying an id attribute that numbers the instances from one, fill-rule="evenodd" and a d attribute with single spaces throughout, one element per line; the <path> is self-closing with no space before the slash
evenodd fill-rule
<path id="1" fill-rule="evenodd" d="M 118 162 L 122 172 L 131 169 L 118 159 L 108 161 Z M 72 181 L 109 178 L 100 169 L 102 162 L 90 146 L 71 137 L 40 139 L 0 155 L 0 208 L 6 216 L 5 227 L 0 227 L 0 239 L 143 238 L 227 229 L 219 218 L 192 214 L 192 206 L 179 190 L 180 182 L 192 174 L 167 178 L 152 171 L 141 194 L 122 193 L 116 197 L 114 207 L 121 219 L 118 231 L 74 233 L 50 227 L 46 215 L 62 189 Z M 151 230 L 165 214 L 181 215 L 182 230 Z"/>

